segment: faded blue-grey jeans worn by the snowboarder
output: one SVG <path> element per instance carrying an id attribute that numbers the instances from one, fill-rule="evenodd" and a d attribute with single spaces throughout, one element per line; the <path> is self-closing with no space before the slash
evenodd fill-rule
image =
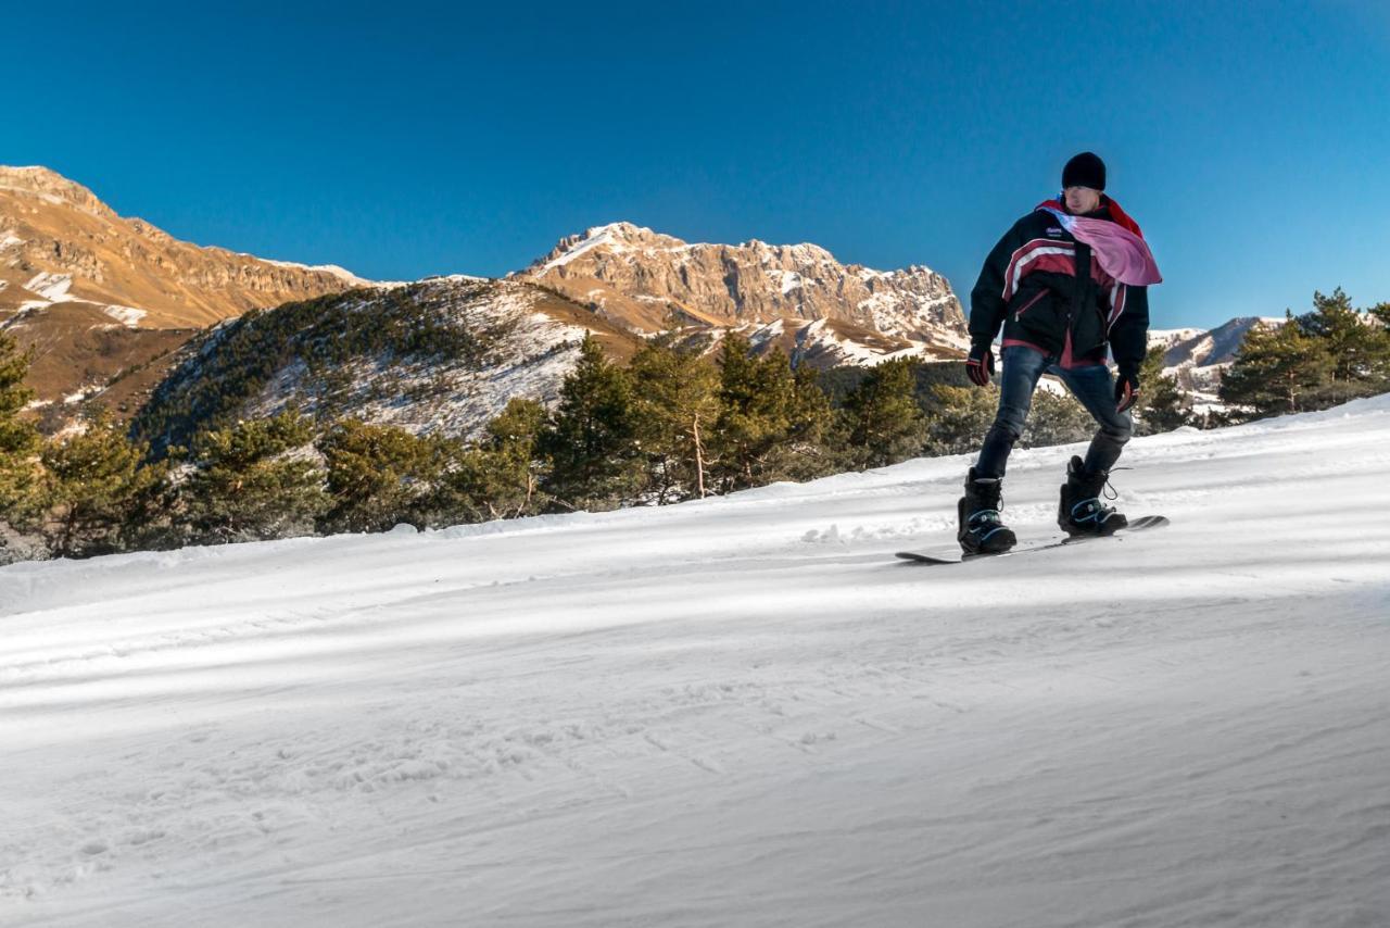
<path id="1" fill-rule="evenodd" d="M 1062 367 L 1055 356 L 1033 348 L 1009 345 L 1001 352 L 999 412 L 984 435 L 980 461 L 974 466 L 979 477 L 1002 477 L 1013 442 L 1023 434 L 1023 423 L 1033 406 L 1033 391 L 1042 374 L 1056 374 L 1066 384 L 1091 417 L 1099 424 L 1091 447 L 1086 452 L 1086 473 L 1109 470 L 1119 461 L 1125 442 L 1134 433 L 1129 410 L 1115 412 L 1115 383 L 1105 365 Z"/>

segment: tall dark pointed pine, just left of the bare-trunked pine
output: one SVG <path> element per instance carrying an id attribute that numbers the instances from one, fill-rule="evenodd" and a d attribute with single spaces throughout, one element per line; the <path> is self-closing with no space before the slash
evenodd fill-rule
<path id="1" fill-rule="evenodd" d="M 541 434 L 545 490 L 564 509 L 612 509 L 641 484 L 631 381 L 585 335 L 560 403 Z"/>

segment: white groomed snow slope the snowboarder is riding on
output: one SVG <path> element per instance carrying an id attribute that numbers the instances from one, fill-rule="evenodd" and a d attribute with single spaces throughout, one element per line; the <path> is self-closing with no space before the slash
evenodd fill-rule
<path id="1" fill-rule="evenodd" d="M 1387 427 L 3 568 L 0 925 L 1390 924 Z"/>

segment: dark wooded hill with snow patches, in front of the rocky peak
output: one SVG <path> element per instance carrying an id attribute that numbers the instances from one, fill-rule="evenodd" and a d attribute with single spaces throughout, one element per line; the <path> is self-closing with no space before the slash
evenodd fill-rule
<path id="1" fill-rule="evenodd" d="M 559 399 L 589 333 L 616 358 L 639 342 L 523 281 L 456 275 L 354 289 L 202 333 L 179 351 L 135 424 L 163 448 L 214 423 L 295 403 L 325 420 L 474 437 L 513 397 Z"/>

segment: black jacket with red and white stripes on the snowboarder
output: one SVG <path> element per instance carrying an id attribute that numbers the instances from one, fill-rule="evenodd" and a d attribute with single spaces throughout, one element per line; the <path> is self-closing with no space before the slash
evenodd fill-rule
<path id="1" fill-rule="evenodd" d="M 1013 224 L 984 260 L 970 291 L 970 338 L 1030 345 L 1055 355 L 1063 367 L 1105 363 L 1109 346 L 1120 370 L 1138 370 L 1148 351 L 1148 288 L 1106 274 L 1091 246 L 1077 242 L 1040 205 Z M 1063 210 L 1065 211 L 1065 210 Z M 1088 218 L 1119 223 L 1143 237 L 1138 224 L 1108 196 Z"/>

